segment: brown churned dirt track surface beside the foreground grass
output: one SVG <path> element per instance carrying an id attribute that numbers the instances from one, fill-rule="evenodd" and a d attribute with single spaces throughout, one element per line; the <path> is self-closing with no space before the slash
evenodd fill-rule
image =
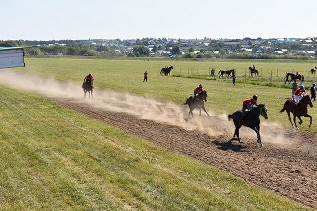
<path id="1" fill-rule="evenodd" d="M 314 134 L 286 131 L 287 136 L 298 141 L 287 145 L 265 143 L 259 147 L 255 137 L 243 137 L 244 143 L 239 143 L 230 141 L 232 134 L 210 136 L 73 100 L 51 100 L 317 208 L 317 136 Z"/>

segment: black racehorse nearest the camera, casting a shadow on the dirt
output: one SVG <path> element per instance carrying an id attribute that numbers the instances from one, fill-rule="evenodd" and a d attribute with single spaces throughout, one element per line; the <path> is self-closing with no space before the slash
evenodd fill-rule
<path id="1" fill-rule="evenodd" d="M 233 122 L 235 125 L 233 139 L 235 138 L 235 135 L 236 135 L 238 141 L 242 143 L 239 138 L 239 129 L 241 128 L 241 126 L 246 126 L 251 128 L 257 133 L 258 143 L 260 143 L 261 147 L 263 147 L 261 137 L 260 137 L 260 115 L 262 115 L 264 119 L 266 120 L 269 118 L 265 104 L 259 104 L 257 108 L 245 112 L 243 117 L 241 117 L 241 115 L 242 115 L 242 110 L 238 110 L 234 112 L 233 114 L 228 115 L 229 121 L 233 119 Z"/>

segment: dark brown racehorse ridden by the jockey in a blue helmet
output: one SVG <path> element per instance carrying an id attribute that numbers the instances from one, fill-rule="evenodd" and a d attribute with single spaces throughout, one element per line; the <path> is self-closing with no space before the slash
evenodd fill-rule
<path id="1" fill-rule="evenodd" d="M 313 107 L 313 104 L 311 102 L 311 98 L 307 94 L 299 101 L 299 103 L 295 106 L 295 108 L 294 108 L 294 102 L 291 99 L 287 100 L 284 103 L 283 109 L 281 109 L 280 113 L 282 113 L 282 112 L 284 112 L 286 110 L 289 122 L 292 124 L 292 127 L 296 128 L 297 130 L 299 130 L 299 128 L 297 127 L 297 124 L 296 124 L 296 117 L 298 117 L 298 119 L 299 119 L 299 122 L 298 122 L 299 125 L 301 125 L 303 123 L 303 121 L 300 118 L 301 116 L 309 117 L 310 118 L 310 124 L 308 126 L 311 127 L 312 117 L 309 114 L 307 114 L 308 105 L 310 107 Z M 295 126 L 293 125 L 292 120 L 290 118 L 290 112 L 293 113 L 293 116 L 294 116 L 293 117 L 293 121 L 294 121 Z"/>

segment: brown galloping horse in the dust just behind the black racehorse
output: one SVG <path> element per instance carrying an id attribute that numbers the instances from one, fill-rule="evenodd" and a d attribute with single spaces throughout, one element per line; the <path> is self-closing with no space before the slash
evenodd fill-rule
<path id="1" fill-rule="evenodd" d="M 194 96 L 194 97 L 191 96 L 188 99 L 186 99 L 186 102 L 184 103 L 184 105 L 187 104 L 189 107 L 188 118 L 190 117 L 190 115 L 192 115 L 194 119 L 194 115 L 193 115 L 194 109 L 199 109 L 199 116 L 201 116 L 201 109 L 203 109 L 206 112 L 206 114 L 210 117 L 210 115 L 205 109 L 205 102 L 207 102 L 207 97 L 208 97 L 207 91 L 202 91 L 197 96 Z"/>

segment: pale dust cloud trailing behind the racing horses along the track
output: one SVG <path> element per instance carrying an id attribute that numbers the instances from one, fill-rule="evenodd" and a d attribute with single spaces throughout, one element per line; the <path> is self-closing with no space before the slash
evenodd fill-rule
<path id="1" fill-rule="evenodd" d="M 202 116 L 199 117 L 199 112 L 196 111 L 194 113 L 195 120 L 192 118 L 188 119 L 187 105 L 182 106 L 172 102 L 161 102 L 155 99 L 108 90 L 94 90 L 93 100 L 84 99 L 81 84 L 31 76 L 9 70 L 0 71 L 0 83 L 45 97 L 63 98 L 76 103 L 87 103 L 95 108 L 123 112 L 137 116 L 140 119 L 180 126 L 187 130 L 205 132 L 210 136 L 228 135 L 228 137 L 232 137 L 234 133 L 233 122 L 228 121 L 227 114 L 217 114 L 209 110 L 208 113 L 211 117 L 207 117 L 204 111 L 202 111 Z M 256 139 L 255 132 L 245 127 L 241 128 L 240 134 L 242 139 L 244 137 L 254 137 Z M 264 143 L 290 143 L 290 137 L 286 136 L 284 129 L 277 123 L 268 124 L 265 121 L 261 122 L 261 137 Z"/>

